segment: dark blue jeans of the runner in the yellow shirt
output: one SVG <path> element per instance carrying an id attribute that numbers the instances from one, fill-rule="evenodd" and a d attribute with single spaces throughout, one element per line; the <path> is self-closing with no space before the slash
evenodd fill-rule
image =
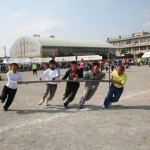
<path id="1" fill-rule="evenodd" d="M 109 92 L 107 96 L 105 97 L 104 105 L 105 107 L 109 107 L 110 103 L 112 102 L 118 102 L 120 99 L 120 96 L 123 93 L 123 87 L 122 88 L 117 88 L 114 86 L 114 84 L 111 84 L 109 88 Z"/>

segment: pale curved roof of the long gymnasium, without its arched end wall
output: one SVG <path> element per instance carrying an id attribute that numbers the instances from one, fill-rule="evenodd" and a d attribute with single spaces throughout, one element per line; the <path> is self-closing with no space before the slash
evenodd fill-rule
<path id="1" fill-rule="evenodd" d="M 33 36 L 33 39 L 38 41 L 41 46 L 64 46 L 64 47 L 97 47 L 97 48 L 116 48 L 115 46 L 104 42 L 94 40 L 75 40 L 52 37 Z"/>

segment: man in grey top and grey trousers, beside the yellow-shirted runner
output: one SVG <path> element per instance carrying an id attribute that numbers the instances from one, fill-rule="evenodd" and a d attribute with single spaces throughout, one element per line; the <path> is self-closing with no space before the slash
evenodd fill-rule
<path id="1" fill-rule="evenodd" d="M 99 70 L 100 70 L 99 63 L 94 63 L 92 70 L 90 70 L 84 75 L 84 79 L 86 79 L 87 81 L 85 82 L 85 89 L 83 92 L 83 96 L 81 97 L 80 102 L 79 102 L 79 109 L 83 108 L 85 101 L 88 101 L 91 99 L 91 97 L 96 92 L 100 84 L 100 81 L 102 81 L 102 79 L 105 77 L 105 73 L 102 73 Z M 93 81 L 88 81 L 88 80 L 93 80 Z"/>

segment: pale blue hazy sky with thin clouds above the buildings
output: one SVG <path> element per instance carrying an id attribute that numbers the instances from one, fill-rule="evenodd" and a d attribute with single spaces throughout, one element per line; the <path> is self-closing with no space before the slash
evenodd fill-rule
<path id="1" fill-rule="evenodd" d="M 150 32 L 150 0 L 0 0 L 0 57 L 22 36 L 100 40 Z"/>

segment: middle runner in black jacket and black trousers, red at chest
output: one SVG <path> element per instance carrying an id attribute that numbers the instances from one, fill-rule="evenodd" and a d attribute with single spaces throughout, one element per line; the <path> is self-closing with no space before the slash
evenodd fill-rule
<path id="1" fill-rule="evenodd" d="M 69 78 L 69 81 L 66 83 L 66 89 L 63 97 L 63 100 L 67 98 L 64 103 L 64 108 L 67 108 L 68 104 L 73 101 L 80 86 L 79 82 L 75 82 L 82 78 L 82 72 L 78 69 L 78 63 L 76 61 L 71 62 L 71 68 L 67 70 L 62 80 L 66 80 L 67 78 Z M 70 80 L 72 80 L 72 82 Z"/>

